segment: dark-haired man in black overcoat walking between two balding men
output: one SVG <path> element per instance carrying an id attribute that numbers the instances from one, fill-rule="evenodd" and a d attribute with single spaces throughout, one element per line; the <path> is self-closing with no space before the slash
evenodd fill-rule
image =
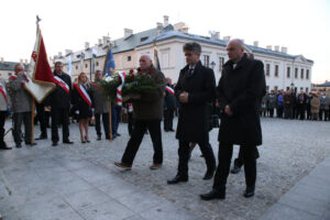
<path id="1" fill-rule="evenodd" d="M 197 143 L 206 160 L 204 179 L 213 177 L 216 158 L 209 145 L 209 106 L 216 97 L 216 79 L 212 69 L 199 61 L 201 47 L 197 43 L 184 45 L 187 65 L 180 70 L 175 96 L 179 105 L 176 138 L 179 140 L 177 175 L 167 184 L 188 180 L 189 143 Z"/>

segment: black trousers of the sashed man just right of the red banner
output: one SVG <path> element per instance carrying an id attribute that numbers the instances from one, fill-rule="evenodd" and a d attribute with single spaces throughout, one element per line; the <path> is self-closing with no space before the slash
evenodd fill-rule
<path id="1" fill-rule="evenodd" d="M 68 129 L 68 109 L 52 109 L 52 141 L 57 143 L 58 138 L 58 124 L 62 124 L 63 141 L 68 141 L 69 129 Z"/>

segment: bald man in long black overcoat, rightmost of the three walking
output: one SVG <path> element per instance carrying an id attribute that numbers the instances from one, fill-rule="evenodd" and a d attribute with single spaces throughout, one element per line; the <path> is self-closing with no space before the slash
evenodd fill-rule
<path id="1" fill-rule="evenodd" d="M 254 195 L 256 179 L 255 147 L 262 144 L 260 100 L 265 95 L 264 66 L 260 61 L 248 59 L 241 40 L 227 45 L 229 59 L 217 87 L 223 110 L 219 130 L 219 164 L 212 190 L 201 199 L 224 199 L 233 144 L 241 145 L 246 189 L 244 197 Z"/>

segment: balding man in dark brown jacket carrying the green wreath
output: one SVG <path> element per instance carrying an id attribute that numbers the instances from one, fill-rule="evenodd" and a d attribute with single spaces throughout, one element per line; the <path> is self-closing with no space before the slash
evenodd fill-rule
<path id="1" fill-rule="evenodd" d="M 161 121 L 163 118 L 165 77 L 153 66 L 148 55 L 140 57 L 138 72 L 139 74 L 147 73 L 160 87 L 151 91 L 128 95 L 133 105 L 134 129 L 121 162 L 114 162 L 114 165 L 127 170 L 132 168 L 139 146 L 146 130 L 148 130 L 154 147 L 153 164 L 150 168 L 157 169 L 163 163 Z"/>

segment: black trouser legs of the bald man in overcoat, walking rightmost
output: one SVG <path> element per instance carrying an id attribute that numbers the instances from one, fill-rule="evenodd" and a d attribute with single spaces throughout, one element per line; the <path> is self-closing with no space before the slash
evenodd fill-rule
<path id="1" fill-rule="evenodd" d="M 248 187 L 255 186 L 255 179 L 256 179 L 255 147 L 256 146 L 242 145 L 245 184 Z M 221 143 L 221 142 L 219 144 L 219 153 L 218 153 L 219 164 L 215 176 L 213 189 L 217 190 L 226 189 L 227 178 L 230 169 L 230 162 L 232 157 L 232 148 L 233 148 L 232 144 Z"/>

